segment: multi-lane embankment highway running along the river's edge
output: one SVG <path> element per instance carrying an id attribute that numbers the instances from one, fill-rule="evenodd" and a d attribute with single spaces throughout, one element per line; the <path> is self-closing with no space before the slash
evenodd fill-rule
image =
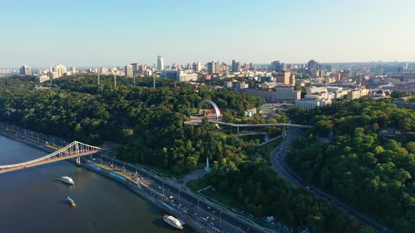
<path id="1" fill-rule="evenodd" d="M 61 147 L 64 147 L 65 145 L 70 144 L 70 142 L 65 142 L 64 140 L 53 137 L 51 135 L 41 135 L 40 133 L 34 131 L 27 131 L 24 128 L 19 128 L 1 122 L 0 128 L 3 128 L 4 131 L 6 131 L 5 133 L 7 133 L 9 137 L 12 137 L 13 139 L 16 138 L 18 140 L 22 140 L 21 142 L 26 144 L 29 143 L 29 145 L 34 145 L 34 147 L 39 149 L 46 149 L 45 151 L 48 152 L 51 149 L 51 145 L 53 145 L 54 147 L 56 147 L 56 145 L 61 145 Z M 120 173 L 120 170 L 123 170 L 124 172 L 129 173 L 129 175 L 133 175 L 134 171 L 135 173 L 137 173 L 138 171 L 141 175 L 143 175 L 144 178 L 146 178 L 146 180 L 148 180 L 148 186 L 151 187 L 151 194 L 153 196 L 154 194 L 156 195 L 154 197 L 158 197 L 158 199 L 166 199 L 166 197 L 175 197 L 174 200 L 179 199 L 179 204 L 181 200 L 182 206 L 177 205 L 179 206 L 177 207 L 173 204 L 172 206 L 174 206 L 174 208 L 179 209 L 179 214 L 181 214 L 180 211 L 186 213 L 186 215 L 184 216 L 186 218 L 189 218 L 190 220 L 190 222 L 188 222 L 188 225 L 190 225 L 193 229 L 198 230 L 199 232 L 219 232 L 221 230 L 224 232 L 231 233 L 273 232 L 272 229 L 264 228 L 260 225 L 255 224 L 255 222 L 252 222 L 251 220 L 242 218 L 240 214 L 231 211 L 231 208 L 229 208 L 228 206 L 218 206 L 215 201 L 206 199 L 205 197 L 200 196 L 198 194 L 193 194 L 192 192 L 187 192 L 186 190 L 174 185 L 174 183 L 172 183 L 171 180 L 160 178 L 158 177 L 158 175 L 155 175 L 151 171 L 147 171 L 146 169 L 141 168 L 140 166 L 136 166 L 135 164 L 129 164 L 125 161 L 117 160 L 114 157 L 107 157 L 102 152 L 101 154 L 94 154 L 88 158 L 90 161 L 98 161 L 101 159 L 101 165 L 104 164 L 108 166 L 107 168 L 113 170 L 114 173 Z M 146 199 L 147 196 L 146 194 L 144 194 L 142 197 Z M 152 204 L 155 204 L 155 206 L 158 206 L 157 202 L 153 202 L 152 200 L 149 201 L 151 201 Z M 172 202 L 174 201 L 172 200 Z M 161 202 L 161 204 L 163 206 L 161 206 L 160 209 L 164 210 L 165 203 Z M 177 211 L 174 208 L 170 208 L 168 208 L 170 211 Z M 171 213 L 170 211 L 169 213 Z M 203 215 L 199 215 L 199 213 Z M 205 218 L 203 218 L 203 216 L 205 216 Z M 209 219 L 209 221 L 207 221 L 206 219 Z M 196 225 L 196 227 L 193 227 L 193 223 L 194 225 Z M 197 228 L 198 226 L 200 226 L 200 229 Z"/>

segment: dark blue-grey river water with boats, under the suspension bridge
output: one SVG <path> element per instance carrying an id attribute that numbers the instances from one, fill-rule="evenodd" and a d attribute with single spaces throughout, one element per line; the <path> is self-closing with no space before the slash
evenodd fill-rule
<path id="1" fill-rule="evenodd" d="M 0 164 L 46 154 L 0 135 Z M 63 175 L 75 185 L 58 180 Z M 164 214 L 123 185 L 68 161 L 0 174 L 0 232 L 193 232 L 170 227 Z"/>

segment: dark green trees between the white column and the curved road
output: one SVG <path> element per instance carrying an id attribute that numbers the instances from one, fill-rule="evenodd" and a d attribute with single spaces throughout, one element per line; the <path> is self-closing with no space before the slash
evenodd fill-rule
<path id="1" fill-rule="evenodd" d="M 274 215 L 290 225 L 306 225 L 312 232 L 373 232 L 336 204 L 293 187 L 263 159 L 223 158 L 215 161 L 206 179 L 216 192 L 255 216 Z"/>

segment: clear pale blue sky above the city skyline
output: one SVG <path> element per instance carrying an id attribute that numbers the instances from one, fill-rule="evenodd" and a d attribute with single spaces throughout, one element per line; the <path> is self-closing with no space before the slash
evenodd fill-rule
<path id="1" fill-rule="evenodd" d="M 414 0 L 3 0 L 0 67 L 415 60 Z"/>

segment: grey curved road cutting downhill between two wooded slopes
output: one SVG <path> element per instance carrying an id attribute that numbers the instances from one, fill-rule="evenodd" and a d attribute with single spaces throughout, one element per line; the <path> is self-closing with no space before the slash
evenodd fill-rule
<path id="1" fill-rule="evenodd" d="M 293 170 L 291 170 L 287 166 L 285 162 L 286 154 L 291 149 L 293 141 L 297 139 L 299 135 L 299 128 L 288 128 L 286 140 L 283 140 L 283 142 L 281 142 L 281 144 L 274 149 L 274 152 L 272 152 L 271 162 L 272 166 L 274 167 L 274 170 L 276 170 L 283 178 L 293 183 L 293 185 L 304 187 L 305 189 L 310 191 L 312 190 L 317 197 L 324 197 L 329 201 L 337 204 L 338 206 L 345 208 L 345 210 L 347 210 L 350 213 L 350 215 L 355 215 L 355 218 L 357 218 L 359 222 L 363 222 L 364 224 L 373 227 L 373 229 L 375 229 L 376 232 L 392 232 L 387 227 L 379 225 L 368 215 L 360 213 L 355 208 L 352 208 L 351 206 L 338 200 L 336 197 L 331 196 L 331 194 L 323 192 L 321 191 L 321 189 L 318 189 L 317 187 L 310 185 L 307 181 L 300 178 L 299 175 L 297 175 Z"/>

